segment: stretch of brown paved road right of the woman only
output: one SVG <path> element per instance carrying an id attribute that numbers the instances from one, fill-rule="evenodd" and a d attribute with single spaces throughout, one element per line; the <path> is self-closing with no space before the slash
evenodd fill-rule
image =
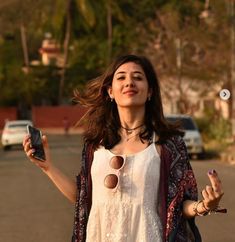
<path id="1" fill-rule="evenodd" d="M 206 175 L 210 169 L 215 169 L 223 182 L 224 197 L 221 205 L 228 209 L 225 214 L 213 214 L 197 217 L 196 221 L 202 233 L 203 242 L 234 242 L 235 241 L 235 166 L 219 161 L 191 162 L 198 182 L 199 191 L 209 185 Z"/>

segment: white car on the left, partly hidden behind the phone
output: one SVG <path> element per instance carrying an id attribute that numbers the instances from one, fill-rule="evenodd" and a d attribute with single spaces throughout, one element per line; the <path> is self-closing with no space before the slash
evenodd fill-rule
<path id="1" fill-rule="evenodd" d="M 33 125 L 30 120 L 7 121 L 2 131 L 2 146 L 4 150 L 21 145 L 27 134 L 27 125 Z"/>

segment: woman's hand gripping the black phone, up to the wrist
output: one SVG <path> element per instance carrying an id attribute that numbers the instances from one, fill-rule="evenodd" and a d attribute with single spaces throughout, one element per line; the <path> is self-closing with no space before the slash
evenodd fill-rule
<path id="1" fill-rule="evenodd" d="M 42 136 L 42 142 L 43 142 L 43 148 L 45 151 L 45 161 L 40 161 L 33 157 L 34 149 L 31 147 L 31 140 L 30 135 L 26 135 L 23 139 L 23 147 L 24 151 L 26 153 L 26 156 L 30 159 L 31 162 L 33 162 L 35 165 L 40 167 L 44 172 L 47 172 L 50 169 L 51 161 L 50 161 L 50 155 L 49 155 L 49 146 L 47 137 L 45 135 Z"/>

